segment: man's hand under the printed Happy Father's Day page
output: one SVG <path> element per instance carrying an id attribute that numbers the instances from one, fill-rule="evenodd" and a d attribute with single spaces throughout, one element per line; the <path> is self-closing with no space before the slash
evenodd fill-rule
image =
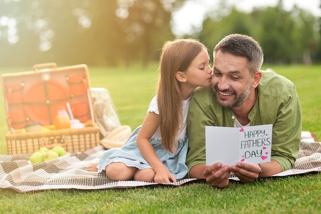
<path id="1" fill-rule="evenodd" d="M 261 173 L 261 168 L 258 164 L 248 164 L 238 162 L 229 168 L 232 173 L 234 173 L 240 181 L 244 183 L 249 183 L 256 180 Z"/>

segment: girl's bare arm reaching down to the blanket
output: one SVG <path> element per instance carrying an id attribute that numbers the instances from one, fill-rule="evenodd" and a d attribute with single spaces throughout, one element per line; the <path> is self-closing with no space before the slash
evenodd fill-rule
<path id="1" fill-rule="evenodd" d="M 137 136 L 137 146 L 139 151 L 141 151 L 143 157 L 151 165 L 154 172 L 156 173 L 154 181 L 157 183 L 170 183 L 170 179 L 176 182 L 174 175 L 169 172 L 169 170 L 160 162 L 157 157 L 152 144 L 150 143 L 150 138 L 156 132 L 159 126 L 159 115 L 153 112 L 149 112 L 143 122 L 141 130 L 139 130 Z"/>

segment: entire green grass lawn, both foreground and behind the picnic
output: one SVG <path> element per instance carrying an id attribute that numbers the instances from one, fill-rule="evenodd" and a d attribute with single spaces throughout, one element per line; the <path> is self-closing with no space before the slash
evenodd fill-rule
<path id="1" fill-rule="evenodd" d="M 59 65 L 58 65 L 59 66 Z M 264 65 L 292 80 L 303 113 L 303 130 L 321 139 L 321 66 Z M 0 74 L 31 68 L 0 69 Z M 139 68 L 89 68 L 90 86 L 109 90 L 119 119 L 135 129 L 155 94 L 157 65 Z M 8 131 L 0 96 L 0 154 L 7 153 Z M 0 181 L 1 182 L 1 181 Z M 318 213 L 321 210 L 321 174 L 258 179 L 249 184 L 231 182 L 216 189 L 206 183 L 182 187 L 109 190 L 53 190 L 18 194 L 0 190 L 0 213 Z"/>

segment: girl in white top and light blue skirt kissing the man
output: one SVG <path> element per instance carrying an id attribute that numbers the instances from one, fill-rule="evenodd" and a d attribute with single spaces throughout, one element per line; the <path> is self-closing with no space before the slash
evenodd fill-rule
<path id="1" fill-rule="evenodd" d="M 207 48 L 195 39 L 167 41 L 159 61 L 157 94 L 143 125 L 121 148 L 104 152 L 88 171 L 102 172 L 111 180 L 176 182 L 188 173 L 185 165 L 186 131 L 190 97 L 198 86 L 208 86 L 212 77 Z"/>

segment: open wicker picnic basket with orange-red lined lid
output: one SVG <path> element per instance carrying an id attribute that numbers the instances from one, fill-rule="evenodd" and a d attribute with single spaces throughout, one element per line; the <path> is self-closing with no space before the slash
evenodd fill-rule
<path id="1" fill-rule="evenodd" d="M 3 74 L 1 79 L 9 155 L 55 145 L 62 145 L 67 152 L 85 152 L 100 144 L 86 65 L 57 68 L 56 63 L 38 64 L 33 71 Z M 84 127 L 55 129 L 57 111 L 67 103 Z M 33 124 L 40 128 L 26 132 L 25 127 Z"/>

